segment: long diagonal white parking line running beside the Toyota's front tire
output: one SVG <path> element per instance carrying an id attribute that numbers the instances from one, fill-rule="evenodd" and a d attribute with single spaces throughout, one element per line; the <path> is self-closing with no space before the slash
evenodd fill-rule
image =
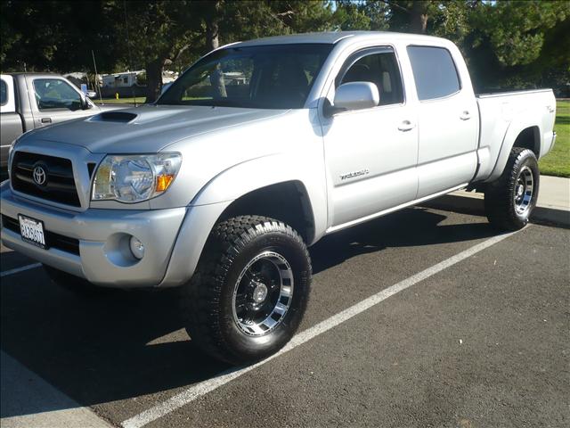
<path id="1" fill-rule="evenodd" d="M 225 383 L 231 382 L 233 379 L 240 377 L 242 374 L 246 374 L 251 370 L 255 369 L 256 367 L 263 366 L 265 363 L 271 361 L 273 358 L 277 358 L 282 354 L 289 352 L 289 350 L 293 350 L 294 348 L 297 348 L 297 346 L 310 341 L 314 337 L 322 333 L 328 332 L 330 329 L 336 327 L 337 325 L 340 325 L 345 321 L 349 320 L 350 318 L 355 317 L 358 314 L 361 314 L 365 310 L 371 309 L 371 307 L 378 305 L 382 300 L 386 300 L 388 297 L 393 296 L 397 292 L 402 292 L 406 288 L 409 288 L 414 284 L 418 284 L 420 281 L 423 281 L 424 279 L 427 279 L 430 276 L 434 276 L 437 273 L 441 272 L 442 270 L 450 268 L 456 263 L 459 263 L 464 259 L 468 259 L 477 252 L 483 251 L 485 250 L 485 248 L 488 248 L 495 243 L 499 243 L 503 239 L 506 239 L 509 236 L 514 235 L 516 233 L 517 232 L 512 232 L 509 234 L 493 236 L 493 238 L 487 239 L 483 243 L 478 243 L 466 251 L 461 251 L 459 254 L 456 254 L 451 258 L 442 261 L 441 263 L 437 263 L 435 266 L 432 266 L 431 268 L 422 270 L 418 274 L 410 276 L 409 278 L 404 279 L 398 284 L 394 284 L 388 287 L 387 289 L 372 295 L 368 299 L 356 303 L 354 306 L 351 306 L 350 308 L 343 310 L 337 315 L 325 319 L 321 323 L 314 325 L 313 327 L 305 330 L 304 332 L 298 333 L 295 337 L 293 337 L 293 339 L 291 339 L 291 341 L 282 350 L 280 350 L 272 357 L 266 358 L 263 361 L 260 361 L 253 366 L 247 366 L 242 368 L 236 367 L 230 370 L 226 370 L 225 372 L 222 372 L 221 374 L 218 374 L 216 377 L 208 379 L 207 381 L 196 383 L 187 390 L 184 390 L 176 394 L 171 399 L 167 399 L 166 401 L 159 403 L 158 405 L 151 407 L 148 410 L 143 411 L 139 415 L 127 419 L 121 425 L 124 428 L 140 428 L 146 424 L 150 424 L 152 421 L 155 421 L 162 416 L 166 416 L 167 414 L 175 411 L 177 408 L 183 407 L 184 405 L 190 403 L 195 399 L 199 399 L 199 397 L 206 395 L 208 392 L 216 390 Z"/>

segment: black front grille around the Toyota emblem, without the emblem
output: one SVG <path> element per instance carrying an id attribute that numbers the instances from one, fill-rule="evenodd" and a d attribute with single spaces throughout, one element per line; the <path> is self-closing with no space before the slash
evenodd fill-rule
<path id="1" fill-rule="evenodd" d="M 34 181 L 34 169 L 45 171 L 45 184 Z M 80 207 L 73 167 L 69 159 L 45 154 L 15 152 L 12 160 L 12 188 L 47 201 Z"/>

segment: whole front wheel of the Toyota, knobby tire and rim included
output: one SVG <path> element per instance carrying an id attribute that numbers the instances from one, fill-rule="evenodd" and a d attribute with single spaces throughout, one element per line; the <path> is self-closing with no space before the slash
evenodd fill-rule
<path id="1" fill-rule="evenodd" d="M 269 357 L 297 331 L 310 284 L 311 260 L 290 226 L 259 216 L 227 219 L 183 287 L 186 330 L 199 348 L 232 364 Z"/>

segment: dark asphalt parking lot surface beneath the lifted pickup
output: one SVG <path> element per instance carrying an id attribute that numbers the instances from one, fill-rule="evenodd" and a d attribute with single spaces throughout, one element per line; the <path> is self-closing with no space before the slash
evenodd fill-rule
<path id="1" fill-rule="evenodd" d="M 570 426 L 570 230 L 414 208 L 311 256 L 311 337 L 248 371 L 192 346 L 175 291 L 79 297 L 41 268 L 2 277 L 1 347 L 116 426 Z M 4 422 L 58 410 L 8 394 Z"/>

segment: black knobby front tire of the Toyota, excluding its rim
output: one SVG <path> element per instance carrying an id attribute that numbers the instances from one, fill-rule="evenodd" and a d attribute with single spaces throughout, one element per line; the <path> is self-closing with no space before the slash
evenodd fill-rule
<path id="1" fill-rule="evenodd" d="M 281 254 L 289 263 L 293 292 L 280 323 L 263 335 L 240 329 L 234 317 L 234 290 L 243 269 L 264 251 Z M 182 287 L 182 314 L 191 341 L 214 358 L 241 365 L 269 357 L 297 331 L 305 313 L 311 259 L 293 228 L 273 218 L 240 216 L 218 223 L 208 237 L 196 273 Z"/>

